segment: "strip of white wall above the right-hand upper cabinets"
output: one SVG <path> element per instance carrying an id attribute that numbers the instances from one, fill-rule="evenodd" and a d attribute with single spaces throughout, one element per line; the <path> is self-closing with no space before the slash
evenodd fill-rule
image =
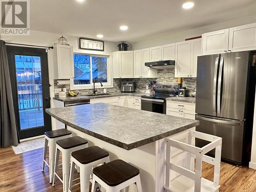
<path id="1" fill-rule="evenodd" d="M 181 31 L 181 32 L 166 32 L 163 34 L 157 34 L 151 37 L 144 38 L 140 41 L 132 42 L 133 50 L 149 48 L 153 46 L 165 45 L 172 42 L 184 41 L 189 37 L 196 37 L 202 35 L 202 33 L 216 31 L 220 29 L 226 29 L 230 27 L 236 27 L 240 25 L 250 24 L 256 22 L 256 14 L 248 17 L 241 17 L 239 19 L 229 20 L 213 25 L 207 25 L 196 29 Z"/>

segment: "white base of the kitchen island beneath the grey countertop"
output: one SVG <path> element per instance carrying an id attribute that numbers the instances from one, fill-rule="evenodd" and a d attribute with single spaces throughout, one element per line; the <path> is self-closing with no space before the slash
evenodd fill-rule
<path id="1" fill-rule="evenodd" d="M 97 145 L 110 153 L 110 160 L 122 159 L 140 170 L 140 178 L 142 190 L 145 192 L 163 192 L 165 179 L 165 142 L 164 139 L 157 140 L 152 143 L 134 148 L 130 151 L 115 146 L 108 142 L 102 141 L 85 133 L 82 133 L 68 126 L 68 130 L 72 132 L 72 136 L 78 135 L 88 140 L 89 146 Z M 169 136 L 168 138 L 184 138 L 190 130 L 195 127 Z M 172 157 L 182 153 L 178 149 L 172 152 Z M 136 192 L 136 185 L 127 187 L 125 192 Z"/>

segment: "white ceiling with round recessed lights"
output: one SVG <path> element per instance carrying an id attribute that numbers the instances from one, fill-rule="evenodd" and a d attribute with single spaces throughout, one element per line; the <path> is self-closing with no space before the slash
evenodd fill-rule
<path id="1" fill-rule="evenodd" d="M 193 1 L 193 0 L 191 0 Z M 137 41 L 167 31 L 181 31 L 256 14 L 255 0 L 32 0 L 31 30 L 97 38 Z M 127 25 L 127 31 L 119 26 Z"/>

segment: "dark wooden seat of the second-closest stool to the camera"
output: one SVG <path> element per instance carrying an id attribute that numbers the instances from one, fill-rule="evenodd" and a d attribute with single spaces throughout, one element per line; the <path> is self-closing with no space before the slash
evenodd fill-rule
<path id="1" fill-rule="evenodd" d="M 82 150 L 75 151 L 71 154 L 79 163 L 88 164 L 104 157 L 108 157 L 110 154 L 98 146 L 91 146 L 83 148 Z"/>

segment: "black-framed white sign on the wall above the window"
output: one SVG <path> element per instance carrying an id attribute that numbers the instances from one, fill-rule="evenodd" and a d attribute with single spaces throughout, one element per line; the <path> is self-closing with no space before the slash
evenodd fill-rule
<path id="1" fill-rule="evenodd" d="M 79 49 L 104 51 L 104 41 L 80 37 Z"/>

